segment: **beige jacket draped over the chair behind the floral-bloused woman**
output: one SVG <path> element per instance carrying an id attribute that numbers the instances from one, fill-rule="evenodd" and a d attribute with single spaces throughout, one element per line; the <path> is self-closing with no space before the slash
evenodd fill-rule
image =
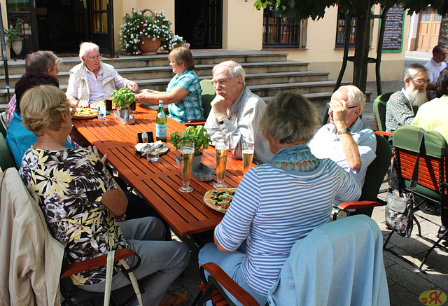
<path id="1" fill-rule="evenodd" d="M 64 246 L 51 236 L 17 169 L 7 169 L 0 185 L 0 288 L 7 285 L 0 304 L 57 305 Z"/>

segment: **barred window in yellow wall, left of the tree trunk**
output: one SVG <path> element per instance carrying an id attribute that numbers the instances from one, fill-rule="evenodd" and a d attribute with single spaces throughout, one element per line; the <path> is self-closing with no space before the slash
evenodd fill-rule
<path id="1" fill-rule="evenodd" d="M 306 48 L 308 20 L 296 22 L 280 12 L 265 9 L 263 48 Z"/>

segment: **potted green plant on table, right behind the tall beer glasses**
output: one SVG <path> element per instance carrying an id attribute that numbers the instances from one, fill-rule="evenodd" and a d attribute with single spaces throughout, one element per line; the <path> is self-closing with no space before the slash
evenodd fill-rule
<path id="1" fill-rule="evenodd" d="M 186 139 L 195 141 L 195 153 L 193 155 L 191 176 L 198 181 L 211 181 L 211 179 L 213 179 L 213 170 L 201 162 L 203 154 L 202 148 L 207 150 L 207 148 L 209 148 L 209 144 L 211 144 L 209 133 L 207 133 L 207 130 L 205 130 L 202 125 L 187 127 L 185 131 L 172 133 L 170 142 L 176 150 L 179 150 L 181 141 Z M 176 162 L 180 167 L 181 156 L 176 158 Z"/>

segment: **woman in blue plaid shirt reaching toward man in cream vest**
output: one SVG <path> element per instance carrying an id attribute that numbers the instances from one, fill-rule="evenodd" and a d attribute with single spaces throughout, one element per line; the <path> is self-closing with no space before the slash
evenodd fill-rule
<path id="1" fill-rule="evenodd" d="M 202 90 L 199 78 L 193 71 L 195 60 L 190 49 L 173 49 L 168 59 L 176 76 L 169 82 L 167 92 L 144 89 L 136 95 L 137 99 L 153 103 L 163 100 L 163 104 L 168 104 L 168 116 L 180 123 L 186 123 L 190 119 L 204 119 Z"/>

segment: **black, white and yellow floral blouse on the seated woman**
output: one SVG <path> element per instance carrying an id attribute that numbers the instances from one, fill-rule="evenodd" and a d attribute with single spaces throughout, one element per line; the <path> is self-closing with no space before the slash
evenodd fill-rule
<path id="1" fill-rule="evenodd" d="M 128 247 L 115 218 L 101 203 L 106 190 L 117 187 L 92 152 L 49 151 L 31 146 L 19 172 L 31 194 L 38 196 L 52 236 L 65 246 L 66 263 Z M 97 284 L 106 279 L 106 267 L 71 279 L 76 285 Z"/>

